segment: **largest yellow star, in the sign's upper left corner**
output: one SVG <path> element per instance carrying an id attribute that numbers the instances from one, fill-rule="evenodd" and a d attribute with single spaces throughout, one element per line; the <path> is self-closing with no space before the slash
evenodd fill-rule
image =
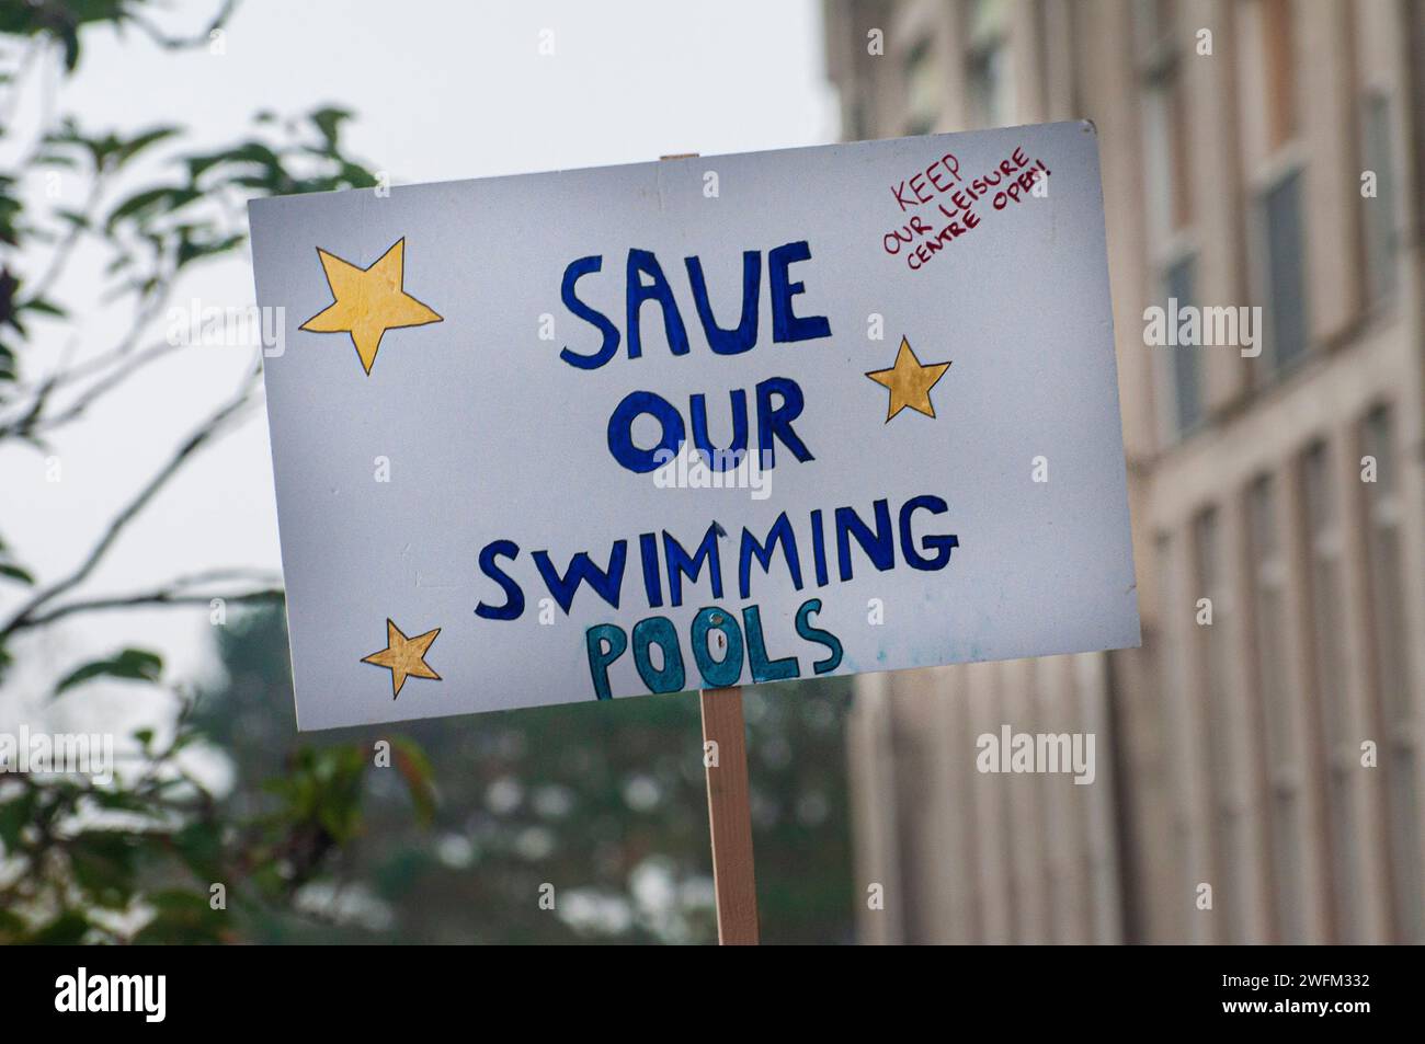
<path id="1" fill-rule="evenodd" d="M 386 330 L 442 322 L 442 316 L 402 289 L 405 238 L 398 239 L 370 268 L 356 268 L 321 246 L 316 248 L 316 256 L 322 259 L 333 301 L 302 323 L 301 329 L 314 333 L 351 333 L 366 373 L 370 373 L 372 363 L 376 362 L 376 349 Z"/>

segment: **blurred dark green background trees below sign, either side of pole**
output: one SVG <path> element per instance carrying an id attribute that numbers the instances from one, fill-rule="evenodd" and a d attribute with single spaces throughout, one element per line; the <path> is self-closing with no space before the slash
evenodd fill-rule
<path id="1" fill-rule="evenodd" d="M 234 813 L 269 795 L 294 728 L 286 631 L 269 608 L 217 628 L 225 681 L 195 716 L 232 759 Z M 767 939 L 851 937 L 844 678 L 745 691 L 760 914 Z M 684 692 L 410 722 L 368 775 L 349 877 L 383 912 L 326 922 L 269 912 L 259 941 L 707 943 L 712 920 L 698 699 Z M 370 729 L 322 734 L 368 748 Z M 433 766 L 429 829 L 398 785 L 408 742 Z M 792 756 L 795 752 L 795 756 Z M 808 867 L 815 866 L 815 873 Z M 554 909 L 542 907 L 542 887 Z"/>

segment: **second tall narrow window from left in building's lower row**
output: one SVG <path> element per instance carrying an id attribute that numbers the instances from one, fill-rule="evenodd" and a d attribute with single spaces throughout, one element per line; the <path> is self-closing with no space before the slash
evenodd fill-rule
<path id="1" fill-rule="evenodd" d="M 1277 491 L 1263 476 L 1247 493 L 1247 536 L 1253 573 L 1253 644 L 1255 682 L 1265 725 L 1271 850 L 1271 900 L 1278 941 L 1305 943 L 1301 835 L 1301 752 L 1292 729 L 1282 634 L 1288 627 L 1287 565 L 1278 533 Z"/>

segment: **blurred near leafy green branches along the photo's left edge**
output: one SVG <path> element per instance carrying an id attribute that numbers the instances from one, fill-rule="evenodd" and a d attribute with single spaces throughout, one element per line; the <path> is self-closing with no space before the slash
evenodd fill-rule
<path id="1" fill-rule="evenodd" d="M 215 4 L 208 28 L 191 38 L 154 20 L 150 0 L 27 0 L 0 4 L 0 134 L 23 101 L 36 60 L 58 53 L 66 73 L 94 27 L 138 31 L 165 48 L 208 41 L 232 10 Z M 0 171 L 0 446 L 46 450 L 51 434 L 87 416 L 114 387 L 175 346 L 145 345 L 180 279 L 195 265 L 245 244 L 245 202 L 258 195 L 321 192 L 375 184 L 343 150 L 351 114 L 323 105 L 292 118 L 269 113 L 221 148 L 185 147 L 182 127 L 154 122 L 137 132 L 95 131 L 74 117 L 44 128 L 19 169 Z M 27 175 L 64 179 L 64 201 L 21 192 Z M 70 187 L 78 185 L 76 194 Z M 74 199 L 80 202 L 76 204 Z M 77 251 L 105 262 L 107 285 L 93 301 L 63 298 Z M 93 309 L 127 305 L 128 329 L 80 362 L 46 367 L 41 330 L 54 333 Z M 0 615 L 0 672 L 24 654 L 23 640 L 57 621 L 133 605 L 271 602 L 274 585 L 241 570 L 177 577 L 154 590 L 86 595 L 84 585 L 127 526 L 190 460 L 225 430 L 252 393 L 251 377 L 144 483 L 81 553 L 73 568 L 40 577 L 0 540 L 0 597 L 19 598 Z M 7 507 L 16 507 L 6 501 Z M 6 602 L 9 604 L 9 601 Z M 61 675 L 54 695 L 71 709 L 88 682 L 123 679 L 161 687 L 174 714 L 140 729 L 118 753 L 111 778 L 0 773 L 0 943 L 215 943 L 244 937 L 264 917 L 289 913 L 299 892 L 332 877 L 366 829 L 372 768 L 366 745 L 295 746 L 274 741 L 276 761 L 261 799 L 221 800 L 197 766 L 214 761 L 194 714 L 194 695 L 164 684 L 162 659 L 125 648 Z M 164 734 L 160 741 L 158 734 Z M 204 751 L 209 749 L 207 758 Z M 435 815 L 430 766 L 409 742 L 396 748 L 418 819 Z"/>

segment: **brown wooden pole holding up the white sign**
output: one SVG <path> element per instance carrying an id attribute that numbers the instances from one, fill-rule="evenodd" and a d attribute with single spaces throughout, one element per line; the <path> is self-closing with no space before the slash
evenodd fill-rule
<path id="1" fill-rule="evenodd" d="M 693 160 L 697 155 L 677 152 L 658 158 Z M 708 776 L 717 941 L 722 946 L 757 946 L 757 870 L 747 788 L 742 687 L 701 689 L 698 701 L 703 705 L 703 763 Z"/>

